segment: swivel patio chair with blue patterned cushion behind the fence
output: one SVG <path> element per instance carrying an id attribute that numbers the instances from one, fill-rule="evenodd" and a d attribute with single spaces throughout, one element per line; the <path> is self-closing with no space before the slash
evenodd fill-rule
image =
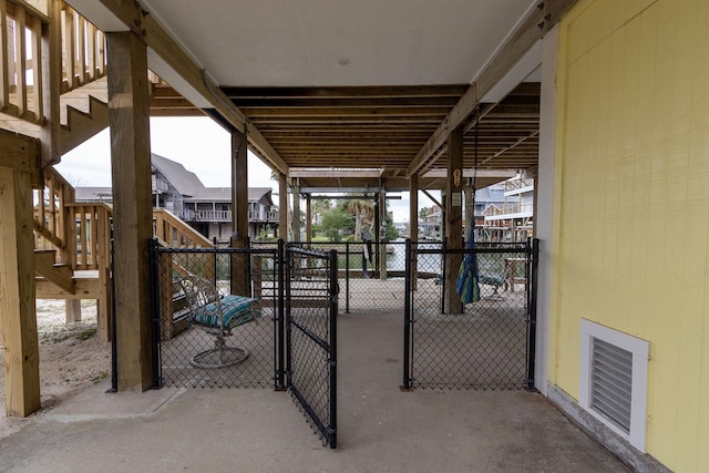
<path id="1" fill-rule="evenodd" d="M 189 320 L 214 336 L 214 348 L 201 351 L 189 362 L 197 368 L 224 368 L 240 363 L 248 350 L 229 347 L 226 338 L 232 329 L 260 317 L 258 299 L 245 296 L 220 296 L 216 285 L 194 275 L 179 280 L 189 306 Z"/>

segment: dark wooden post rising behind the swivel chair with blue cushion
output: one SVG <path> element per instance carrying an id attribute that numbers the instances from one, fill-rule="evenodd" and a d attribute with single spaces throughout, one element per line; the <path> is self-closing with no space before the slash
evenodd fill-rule
<path id="1" fill-rule="evenodd" d="M 246 136 L 232 133 L 232 247 L 248 246 L 248 165 Z M 248 255 L 235 254 L 232 259 L 232 294 L 250 296 Z"/>

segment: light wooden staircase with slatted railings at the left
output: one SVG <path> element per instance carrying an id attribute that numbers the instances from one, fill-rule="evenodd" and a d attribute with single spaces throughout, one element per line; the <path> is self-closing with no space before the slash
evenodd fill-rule
<path id="1" fill-rule="evenodd" d="M 0 128 L 54 143 L 33 184 L 35 297 L 96 299 L 99 333 L 107 340 L 113 210 L 76 203 L 73 187 L 52 166 L 109 126 L 105 35 L 62 0 L 51 3 L 53 11 L 42 4 L 0 0 L 2 33 L 14 39 L 0 41 Z M 173 96 L 155 74 L 147 80 L 158 89 L 156 99 Z M 212 246 L 166 210 L 156 210 L 154 222 L 165 245 Z M 175 312 L 184 309 L 178 306 Z"/>

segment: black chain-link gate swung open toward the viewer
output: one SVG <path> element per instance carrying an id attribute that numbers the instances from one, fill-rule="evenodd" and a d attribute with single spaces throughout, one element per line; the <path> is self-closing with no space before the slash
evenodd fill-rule
<path id="1" fill-rule="evenodd" d="M 337 446 L 337 251 L 286 248 L 286 377 L 325 444 Z"/>

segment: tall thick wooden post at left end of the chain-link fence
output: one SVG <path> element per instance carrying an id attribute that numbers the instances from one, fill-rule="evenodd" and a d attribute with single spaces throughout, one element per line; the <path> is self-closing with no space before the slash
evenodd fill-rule
<path id="1" fill-rule="evenodd" d="M 106 44 L 119 390 L 146 390 L 153 382 L 147 50 L 132 32 L 106 33 Z"/>

